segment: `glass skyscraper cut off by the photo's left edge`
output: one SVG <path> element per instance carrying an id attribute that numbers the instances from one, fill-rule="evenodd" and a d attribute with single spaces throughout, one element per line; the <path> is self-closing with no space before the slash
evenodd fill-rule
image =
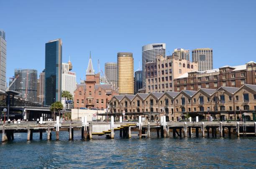
<path id="1" fill-rule="evenodd" d="M 0 30 L 0 90 L 6 90 L 6 40 L 3 30 Z"/>

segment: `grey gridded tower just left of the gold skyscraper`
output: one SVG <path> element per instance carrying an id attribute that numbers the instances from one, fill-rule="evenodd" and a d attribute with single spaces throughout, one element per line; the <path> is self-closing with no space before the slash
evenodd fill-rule
<path id="1" fill-rule="evenodd" d="M 117 88 L 117 63 L 105 63 L 105 82 Z"/>

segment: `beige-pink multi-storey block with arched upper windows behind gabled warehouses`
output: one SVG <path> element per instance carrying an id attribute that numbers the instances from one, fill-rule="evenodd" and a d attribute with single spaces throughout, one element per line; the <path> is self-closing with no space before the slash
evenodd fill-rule
<path id="1" fill-rule="evenodd" d="M 146 93 L 174 91 L 174 78 L 191 71 L 197 71 L 197 63 L 159 55 L 156 62 L 146 63 Z"/>

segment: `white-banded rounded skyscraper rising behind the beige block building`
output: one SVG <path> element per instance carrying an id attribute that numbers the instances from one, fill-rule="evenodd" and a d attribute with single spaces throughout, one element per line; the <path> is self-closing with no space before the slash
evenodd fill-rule
<path id="1" fill-rule="evenodd" d="M 165 58 L 165 43 L 153 43 L 142 47 L 142 87 L 145 88 L 145 70 L 146 63 L 155 62 L 157 55 L 162 55 Z"/>

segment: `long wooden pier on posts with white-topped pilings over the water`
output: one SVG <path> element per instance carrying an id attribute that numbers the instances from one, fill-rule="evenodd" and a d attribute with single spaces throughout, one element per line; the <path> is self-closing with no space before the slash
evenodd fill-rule
<path id="1" fill-rule="evenodd" d="M 2 134 L 2 142 L 12 141 L 15 132 L 26 132 L 27 140 L 33 140 L 33 133 L 39 132 L 39 138 L 42 139 L 43 132 L 47 133 L 47 140 L 51 140 L 52 131 L 56 131 L 56 140 L 59 140 L 59 130 L 69 132 L 69 140 L 73 139 L 74 130 L 81 130 L 81 138 L 92 139 L 93 135 L 106 135 L 107 138 L 114 138 L 114 131 L 120 131 L 119 136 L 123 138 L 131 138 L 137 136 L 138 138 L 151 137 L 150 131 L 154 130 L 157 137 L 191 137 L 192 131 L 195 131 L 195 136 L 216 137 L 217 130 L 220 137 L 225 137 L 225 133 L 231 136 L 231 130 L 235 131 L 239 136 L 256 136 L 256 122 L 90 122 L 87 123 L 86 117 L 82 118 L 83 123 L 49 123 L 45 121 L 42 124 L 23 123 L 23 124 L 0 124 L 0 132 Z M 192 130 L 193 129 L 193 130 Z M 226 129 L 226 130 L 225 130 Z M 136 131 L 136 134 L 133 134 Z M 211 131 L 211 132 L 210 132 Z M 226 131 L 226 132 L 225 132 Z"/>

